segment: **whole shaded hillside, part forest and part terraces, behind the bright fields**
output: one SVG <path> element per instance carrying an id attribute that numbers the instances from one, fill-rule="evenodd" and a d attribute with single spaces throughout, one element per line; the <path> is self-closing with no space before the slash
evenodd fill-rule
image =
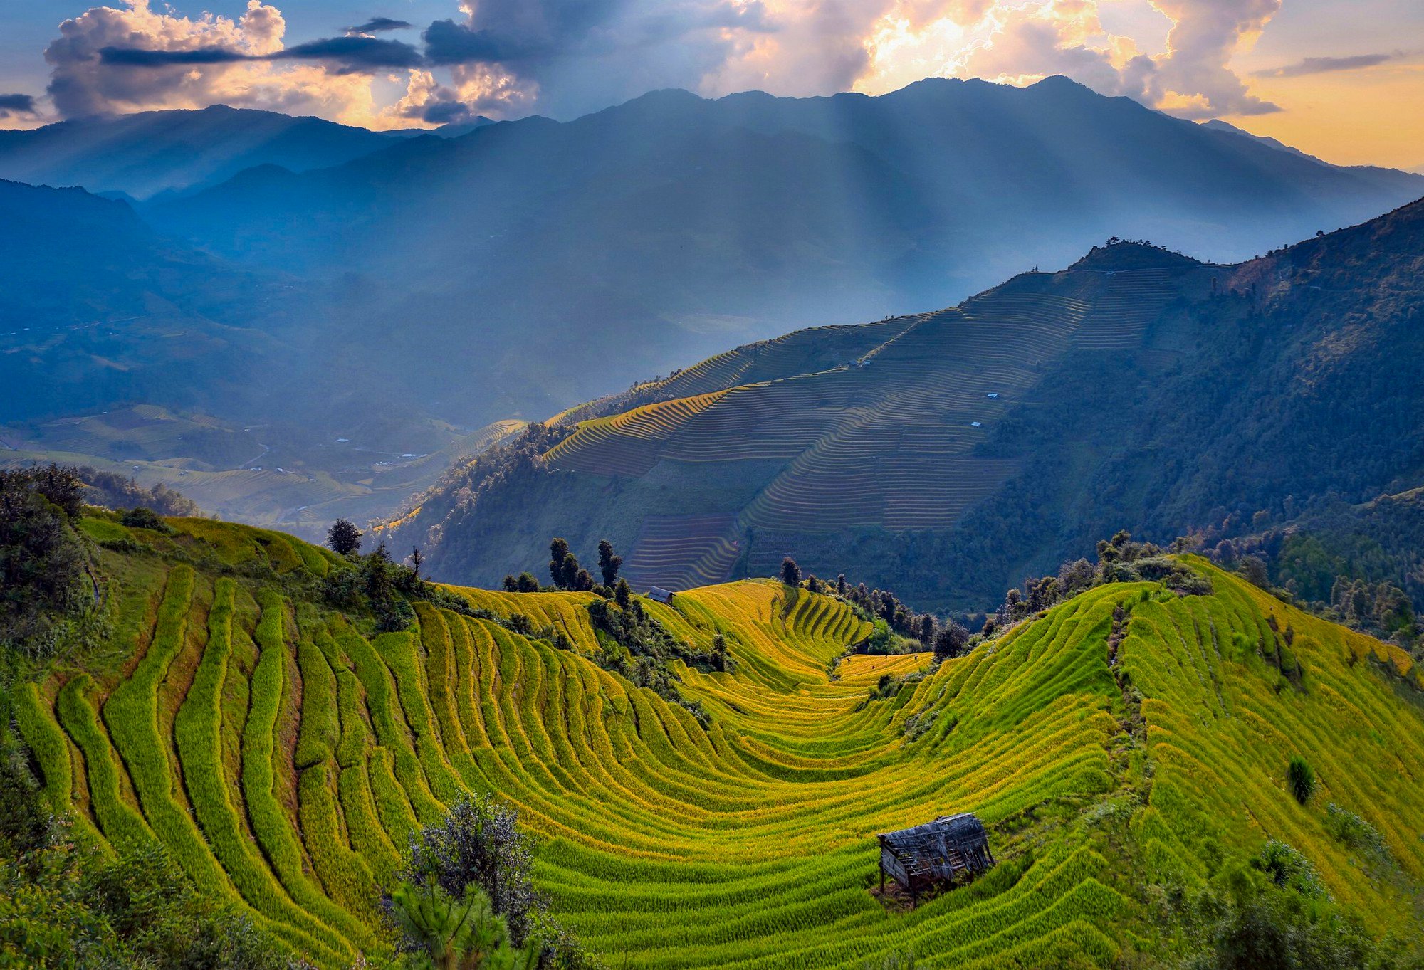
<path id="1" fill-rule="evenodd" d="M 454 469 L 392 535 L 459 582 L 530 569 L 558 535 L 585 558 L 611 539 L 639 585 L 790 553 L 921 609 L 988 609 L 1119 523 L 1169 542 L 1424 484 L 1424 398 L 1396 380 L 1424 360 L 1421 267 L 1424 203 L 1235 266 L 1095 247 L 564 412 L 540 461 Z"/>

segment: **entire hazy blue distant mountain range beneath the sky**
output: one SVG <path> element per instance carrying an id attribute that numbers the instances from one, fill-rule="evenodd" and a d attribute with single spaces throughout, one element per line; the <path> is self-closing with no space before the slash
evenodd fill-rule
<path id="1" fill-rule="evenodd" d="M 1239 260 L 1424 195 L 1064 78 L 658 91 L 437 135 L 229 108 L 0 132 L 0 174 L 118 196 L 0 188 L 11 437 L 144 404 L 234 441 L 261 425 L 283 468 L 370 488 L 376 457 L 446 454 L 799 326 L 951 306 L 1108 236 Z M 336 438 L 370 458 L 330 465 L 313 449 Z M 221 474 L 188 444 L 98 458 Z M 302 528 L 309 503 L 259 518 Z"/>

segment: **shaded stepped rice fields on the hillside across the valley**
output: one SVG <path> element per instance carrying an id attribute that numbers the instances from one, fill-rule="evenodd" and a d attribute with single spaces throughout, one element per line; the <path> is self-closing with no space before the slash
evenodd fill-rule
<path id="1" fill-rule="evenodd" d="M 646 385 L 672 400 L 580 422 L 548 458 L 625 478 L 659 462 L 782 462 L 750 502 L 715 509 L 735 516 L 738 536 L 948 529 L 1018 472 L 984 445 L 1045 366 L 1069 350 L 1141 347 L 1179 276 L 1040 275 L 948 310 L 742 347 Z M 736 559 L 696 528 L 681 545 L 675 531 L 642 542 L 629 562 L 662 586 L 725 577 Z"/>

